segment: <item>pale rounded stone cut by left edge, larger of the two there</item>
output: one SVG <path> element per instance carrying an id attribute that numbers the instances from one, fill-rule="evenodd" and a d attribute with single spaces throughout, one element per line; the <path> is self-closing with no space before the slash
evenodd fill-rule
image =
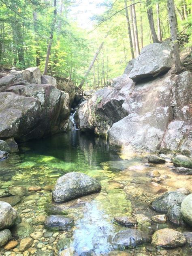
<path id="1" fill-rule="evenodd" d="M 10 204 L 0 201 L 0 230 L 13 226 L 17 211 Z"/>

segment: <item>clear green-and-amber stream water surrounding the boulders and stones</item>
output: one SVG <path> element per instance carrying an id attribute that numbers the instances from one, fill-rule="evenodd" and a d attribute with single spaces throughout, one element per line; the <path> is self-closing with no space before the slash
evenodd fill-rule
<path id="1" fill-rule="evenodd" d="M 116 232 L 126 229 L 117 224 L 113 217 L 157 215 L 150 208 L 150 203 L 159 195 L 146 185 L 151 180 L 148 172 L 160 172 L 168 191 L 181 187 L 181 183 L 183 187 L 190 188 L 190 178 L 174 174 L 170 165 L 172 163 L 148 163 L 147 158 L 141 155 L 122 160 L 116 152 L 109 149 L 106 140 L 94 135 L 87 136 L 77 130 L 20 144 L 18 153 L 11 154 L 6 161 L 0 161 L 0 194 L 14 205 L 22 218 L 21 223 L 24 223 L 17 229 L 12 228 L 13 237 L 17 239 L 22 233 L 28 233 L 29 236 L 36 232 L 40 237 L 34 237 L 30 252 L 35 255 L 55 255 L 69 247 L 75 248 L 76 254 L 73 255 L 105 255 L 114 250 L 119 253 L 114 251 L 114 254 L 109 255 L 124 255 L 120 251 L 130 253 L 125 255 L 140 256 L 190 255 L 188 245 L 182 249 L 179 247 L 169 250 L 168 253 L 151 244 L 128 249 L 112 242 Z M 55 182 L 60 176 L 74 171 L 96 178 L 100 181 L 102 190 L 64 204 L 53 204 L 51 190 Z M 11 185 L 26 187 L 26 191 L 31 186 L 40 186 L 42 189 L 28 191 L 19 198 L 7 197 Z M 43 217 L 54 214 L 57 207 L 62 209 L 62 214 L 74 219 L 74 225 L 64 231 L 46 230 L 41 221 Z M 160 228 L 190 231 L 189 227 L 173 226 L 169 221 L 163 224 L 154 222 L 150 226 L 141 223 L 139 228 L 148 234 Z M 0 255 L 5 255 L 3 248 L 0 250 Z"/>

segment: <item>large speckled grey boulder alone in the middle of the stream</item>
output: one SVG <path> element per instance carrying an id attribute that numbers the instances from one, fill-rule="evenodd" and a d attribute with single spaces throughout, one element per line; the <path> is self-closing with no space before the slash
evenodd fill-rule
<path id="1" fill-rule="evenodd" d="M 100 183 L 80 172 L 69 172 L 60 177 L 52 192 L 52 198 L 55 202 L 67 202 L 81 196 L 99 192 Z"/>

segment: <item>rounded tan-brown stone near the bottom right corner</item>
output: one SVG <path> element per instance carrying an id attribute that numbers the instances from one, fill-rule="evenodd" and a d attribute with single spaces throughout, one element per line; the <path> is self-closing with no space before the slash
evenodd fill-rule
<path id="1" fill-rule="evenodd" d="M 157 230 L 152 237 L 153 245 L 158 245 L 166 248 L 176 248 L 183 246 L 186 243 L 184 235 L 171 228 L 163 228 Z"/>

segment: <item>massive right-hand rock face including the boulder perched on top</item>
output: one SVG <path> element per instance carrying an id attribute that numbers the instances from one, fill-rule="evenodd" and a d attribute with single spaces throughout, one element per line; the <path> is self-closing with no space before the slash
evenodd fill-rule
<path id="1" fill-rule="evenodd" d="M 192 73 L 173 75 L 172 63 L 168 45 L 144 47 L 113 87 L 80 105 L 79 128 L 107 135 L 112 146 L 126 151 L 191 154 Z"/>

